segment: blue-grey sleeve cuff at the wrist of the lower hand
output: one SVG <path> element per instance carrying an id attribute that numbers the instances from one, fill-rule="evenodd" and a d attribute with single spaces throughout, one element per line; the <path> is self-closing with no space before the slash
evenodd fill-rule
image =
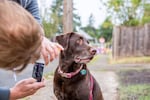
<path id="1" fill-rule="evenodd" d="M 10 90 L 0 87 L 0 100 L 9 100 Z"/>

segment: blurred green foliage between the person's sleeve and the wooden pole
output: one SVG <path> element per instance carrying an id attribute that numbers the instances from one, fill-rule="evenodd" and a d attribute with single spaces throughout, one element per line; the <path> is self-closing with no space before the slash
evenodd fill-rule
<path id="1" fill-rule="evenodd" d="M 53 0 L 51 8 L 46 8 L 46 14 L 42 16 L 46 37 L 52 37 L 56 33 L 62 33 L 62 0 Z"/>

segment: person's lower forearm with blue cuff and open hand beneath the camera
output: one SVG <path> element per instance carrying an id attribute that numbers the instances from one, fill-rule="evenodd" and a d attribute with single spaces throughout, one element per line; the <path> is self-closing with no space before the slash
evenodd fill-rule
<path id="1" fill-rule="evenodd" d="M 33 95 L 40 88 L 45 87 L 44 82 L 36 82 L 33 78 L 19 81 L 14 87 L 0 88 L 0 100 L 17 100 Z"/>

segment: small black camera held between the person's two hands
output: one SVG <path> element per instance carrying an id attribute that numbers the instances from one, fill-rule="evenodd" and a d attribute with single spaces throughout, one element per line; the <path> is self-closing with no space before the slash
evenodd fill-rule
<path id="1" fill-rule="evenodd" d="M 44 70 L 44 63 L 42 62 L 35 62 L 32 72 L 32 77 L 37 80 L 37 82 L 42 81 L 43 70 Z"/>

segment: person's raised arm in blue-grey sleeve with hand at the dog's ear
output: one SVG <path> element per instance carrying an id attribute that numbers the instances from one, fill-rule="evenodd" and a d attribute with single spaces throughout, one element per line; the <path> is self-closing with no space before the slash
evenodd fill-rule
<path id="1" fill-rule="evenodd" d="M 44 36 L 44 29 L 42 27 L 42 21 L 40 18 L 39 6 L 37 0 L 31 0 L 31 2 L 26 6 L 25 9 L 28 12 L 30 12 L 41 25 L 41 29 L 42 29 L 41 34 L 43 36 L 41 54 L 43 55 L 45 64 L 47 65 L 49 62 L 53 61 L 58 56 L 59 52 L 63 50 L 63 47 L 58 43 L 51 42 Z"/>

